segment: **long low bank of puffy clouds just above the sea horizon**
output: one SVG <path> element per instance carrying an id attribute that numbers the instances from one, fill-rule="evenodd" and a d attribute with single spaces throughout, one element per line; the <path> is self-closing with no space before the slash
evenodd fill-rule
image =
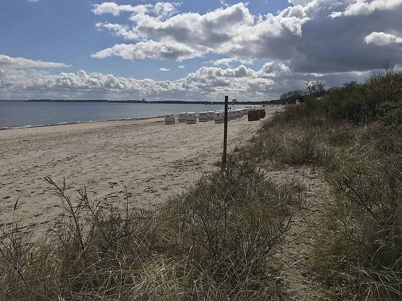
<path id="1" fill-rule="evenodd" d="M 13 60 L 14 58 L 11 58 Z M 29 60 L 28 60 L 29 61 Z M 79 70 L 76 73 L 51 74 L 47 65 L 31 65 L 24 69 L 0 68 L 0 96 L 21 98 L 60 97 L 140 99 L 221 99 L 230 94 L 239 99 L 268 100 L 287 89 L 303 88 L 312 75 L 295 75 L 287 66 L 269 62 L 259 70 L 240 65 L 236 68 L 201 67 L 175 80 L 157 81 L 119 77 L 113 74 Z M 169 70 L 161 68 L 161 71 Z M 342 75 L 344 76 L 344 75 Z"/>

